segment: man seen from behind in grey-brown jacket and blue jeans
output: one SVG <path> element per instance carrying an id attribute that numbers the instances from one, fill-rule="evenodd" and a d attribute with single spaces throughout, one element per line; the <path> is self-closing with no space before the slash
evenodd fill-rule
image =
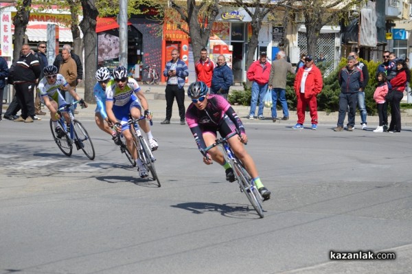
<path id="1" fill-rule="evenodd" d="M 285 59 L 285 52 L 277 52 L 276 58 L 272 62 L 271 75 L 269 77 L 269 89 L 272 90 L 272 121 L 276 122 L 276 103 L 279 98 L 280 104 L 282 104 L 282 110 L 284 117 L 282 120 L 289 119 L 288 102 L 286 101 L 286 76 L 288 71 L 295 74 L 295 70 L 292 68 L 292 64 Z"/>

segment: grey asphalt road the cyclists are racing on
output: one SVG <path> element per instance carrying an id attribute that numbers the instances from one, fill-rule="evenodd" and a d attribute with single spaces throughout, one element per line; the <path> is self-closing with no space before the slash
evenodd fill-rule
<path id="1" fill-rule="evenodd" d="M 260 219 L 187 126 L 160 125 L 162 187 L 110 137 L 65 157 L 49 122 L 0 124 L 0 273 L 412 273 L 411 136 L 245 122 L 272 192 Z M 330 260 L 330 251 L 396 260 Z"/>

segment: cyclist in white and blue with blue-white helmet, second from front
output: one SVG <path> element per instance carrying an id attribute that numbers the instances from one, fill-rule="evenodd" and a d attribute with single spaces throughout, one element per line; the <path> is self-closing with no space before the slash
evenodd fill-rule
<path id="1" fill-rule="evenodd" d="M 152 119 L 149 111 L 148 102 L 144 93 L 140 92 L 139 84 L 133 78 L 128 77 L 126 67 L 119 66 L 113 69 L 113 80 L 110 80 L 106 86 L 106 112 L 108 120 L 113 124 L 122 125 L 122 133 L 126 139 L 126 146 L 130 152 L 133 152 L 133 159 L 139 165 L 139 175 L 141 178 L 148 176 L 148 171 L 144 168 L 143 163 L 137 157 L 136 150 L 133 150 L 133 137 L 127 125 L 129 116 L 138 119 L 142 115 Z M 143 109 L 142 109 L 143 108 Z M 142 112 L 144 110 L 144 113 Z M 158 147 L 157 141 L 150 132 L 150 127 L 146 119 L 139 121 L 139 126 L 147 134 L 148 141 L 152 150 Z"/>

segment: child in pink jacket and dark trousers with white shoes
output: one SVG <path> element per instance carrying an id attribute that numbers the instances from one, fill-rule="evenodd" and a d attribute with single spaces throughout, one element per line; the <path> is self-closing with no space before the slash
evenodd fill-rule
<path id="1" fill-rule="evenodd" d="M 388 103 L 385 101 L 385 96 L 388 93 L 387 76 L 385 72 L 378 73 L 378 87 L 374 93 L 374 100 L 379 115 L 379 126 L 374 130 L 374 133 L 382 133 L 388 130 Z"/>

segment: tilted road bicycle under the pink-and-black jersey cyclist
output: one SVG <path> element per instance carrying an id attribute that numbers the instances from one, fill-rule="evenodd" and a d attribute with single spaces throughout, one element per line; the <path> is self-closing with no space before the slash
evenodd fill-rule
<path id="1" fill-rule="evenodd" d="M 260 218 L 263 218 L 264 215 L 262 208 L 262 195 L 260 195 L 258 188 L 255 186 L 255 182 L 253 181 L 252 176 L 244 168 L 243 163 L 240 161 L 240 159 L 238 159 L 238 157 L 236 157 L 236 155 L 231 150 L 229 143 L 227 142 L 227 140 L 234 135 L 239 135 L 240 137 L 240 133 L 238 131 L 233 132 L 225 138 L 216 139 L 216 143 L 211 144 L 204 150 L 201 150 L 201 152 L 203 156 L 208 157 L 207 151 L 211 148 L 214 148 L 215 146 L 221 146 L 223 148 L 225 157 L 233 168 L 233 173 L 235 174 L 236 180 L 239 183 L 240 192 L 244 192 L 244 194 L 246 194 L 255 211 L 258 212 Z"/>

